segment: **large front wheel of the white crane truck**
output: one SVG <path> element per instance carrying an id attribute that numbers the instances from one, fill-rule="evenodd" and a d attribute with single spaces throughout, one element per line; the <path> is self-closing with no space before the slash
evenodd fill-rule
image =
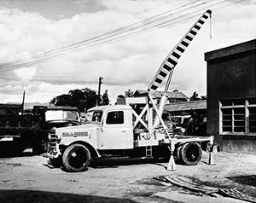
<path id="1" fill-rule="evenodd" d="M 67 171 L 85 171 L 90 164 L 90 151 L 82 144 L 73 144 L 64 151 L 62 161 Z"/>

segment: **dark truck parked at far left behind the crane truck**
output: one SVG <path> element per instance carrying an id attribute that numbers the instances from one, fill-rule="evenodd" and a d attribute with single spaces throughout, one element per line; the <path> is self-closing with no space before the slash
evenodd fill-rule
<path id="1" fill-rule="evenodd" d="M 0 144 L 13 154 L 26 148 L 41 154 L 49 129 L 79 125 L 79 116 L 76 107 L 35 106 L 23 110 L 22 104 L 0 104 Z"/>

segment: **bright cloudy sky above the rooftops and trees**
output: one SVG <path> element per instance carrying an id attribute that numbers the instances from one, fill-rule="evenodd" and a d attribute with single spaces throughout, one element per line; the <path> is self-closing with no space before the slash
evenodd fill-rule
<path id="1" fill-rule="evenodd" d="M 49 102 L 69 90 L 108 90 L 111 103 L 126 90 L 148 90 L 161 62 L 207 9 L 212 19 L 183 53 L 169 90 L 207 96 L 206 52 L 256 38 L 255 0 L 0 0 L 0 103 Z M 168 13 L 167 13 L 168 12 Z M 167 14 L 165 26 L 55 59 L 3 68 L 53 49 L 106 36 Z M 143 31 L 143 24 L 141 31 Z M 158 90 L 164 90 L 162 84 Z"/>

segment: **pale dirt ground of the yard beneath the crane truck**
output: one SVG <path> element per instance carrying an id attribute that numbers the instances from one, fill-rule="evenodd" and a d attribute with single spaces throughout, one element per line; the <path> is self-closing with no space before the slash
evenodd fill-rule
<path id="1" fill-rule="evenodd" d="M 101 159 L 84 172 L 70 173 L 54 168 L 49 160 L 29 153 L 0 158 L 0 202 L 245 202 L 210 197 L 156 180 L 159 176 L 184 176 L 217 188 L 236 188 L 256 197 L 256 156 L 213 154 L 216 165 L 207 165 L 203 153 L 199 165 L 177 165 L 154 159 Z"/>

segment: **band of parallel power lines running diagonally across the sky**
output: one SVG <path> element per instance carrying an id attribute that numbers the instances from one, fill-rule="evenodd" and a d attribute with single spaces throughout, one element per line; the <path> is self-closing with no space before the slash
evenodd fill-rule
<path id="1" fill-rule="evenodd" d="M 244 0 L 236 1 L 235 3 L 239 3 L 241 1 L 244 1 Z M 197 0 L 193 3 L 198 3 L 198 2 L 200 2 L 200 0 Z M 211 3 L 211 2 L 212 2 L 212 0 L 208 0 L 208 1 L 204 1 L 204 2 L 201 2 L 200 4 L 195 4 L 195 5 L 193 5 L 193 3 L 188 3 L 188 4 L 185 4 L 177 9 L 172 9 L 170 11 L 166 11 L 165 13 L 157 14 L 157 15 L 150 17 L 146 20 L 141 20 L 137 23 L 131 24 L 130 26 L 125 26 L 125 27 L 119 28 L 117 30 L 114 30 L 112 32 L 107 32 L 102 35 L 96 36 L 94 38 L 89 38 L 89 39 L 83 40 L 79 43 L 70 44 L 70 45 L 64 46 L 60 49 L 53 49 L 51 51 L 45 52 L 44 54 L 34 55 L 27 59 L 21 59 L 21 60 L 17 60 L 17 61 L 11 61 L 11 62 L 0 64 L 0 68 L 2 68 L 2 70 L 8 70 L 8 69 L 14 69 L 17 67 L 32 66 L 32 65 L 38 64 L 40 62 L 49 61 L 49 60 L 53 60 L 55 58 L 59 58 L 64 55 L 71 55 L 73 53 L 80 52 L 84 49 L 92 49 L 92 48 L 95 48 L 98 46 L 102 46 L 104 44 L 110 44 L 113 42 L 117 42 L 117 41 L 123 40 L 125 38 L 131 38 L 135 35 L 138 35 L 138 34 L 141 34 L 144 32 L 149 32 L 156 28 L 170 26 L 174 23 L 181 22 L 183 20 L 189 20 L 190 18 L 197 16 L 197 13 L 203 9 L 208 8 L 209 5 L 207 5 L 207 3 Z M 218 3 L 212 3 L 212 5 L 210 5 L 210 6 L 214 7 L 221 3 L 228 3 L 228 0 L 223 0 Z M 235 3 L 229 3 L 225 7 L 235 4 Z M 197 10 L 191 11 L 190 13 L 183 14 L 184 11 L 187 11 L 189 9 L 195 9 L 195 8 L 198 8 L 201 6 L 203 6 L 203 7 L 199 8 Z M 186 7 L 188 7 L 188 8 L 186 8 Z M 182 10 L 178 11 L 178 9 L 182 9 Z M 218 8 L 218 9 L 221 9 L 221 8 Z M 173 11 L 177 11 L 177 12 L 172 13 L 172 15 L 171 15 L 171 12 L 173 12 Z M 173 18 L 173 16 L 175 14 L 179 14 L 179 13 L 182 13 L 182 15 Z M 170 16 L 172 16 L 172 19 L 168 19 L 168 18 L 170 18 Z"/>

